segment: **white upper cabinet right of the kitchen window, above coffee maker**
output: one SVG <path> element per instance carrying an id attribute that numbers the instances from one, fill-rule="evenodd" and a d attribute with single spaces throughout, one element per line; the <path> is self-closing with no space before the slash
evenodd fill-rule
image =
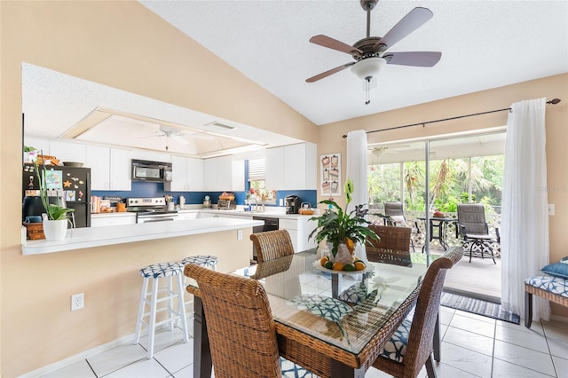
<path id="1" fill-rule="evenodd" d="M 317 146 L 313 143 L 267 149 L 266 187 L 276 190 L 316 190 L 316 154 Z"/>

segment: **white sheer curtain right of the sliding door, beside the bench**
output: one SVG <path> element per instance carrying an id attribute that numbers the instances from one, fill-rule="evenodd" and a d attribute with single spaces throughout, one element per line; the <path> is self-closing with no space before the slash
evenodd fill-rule
<path id="1" fill-rule="evenodd" d="M 501 209 L 501 306 L 525 317 L 523 281 L 548 264 L 546 98 L 511 108 Z M 533 319 L 548 320 L 548 302 L 534 298 Z"/>

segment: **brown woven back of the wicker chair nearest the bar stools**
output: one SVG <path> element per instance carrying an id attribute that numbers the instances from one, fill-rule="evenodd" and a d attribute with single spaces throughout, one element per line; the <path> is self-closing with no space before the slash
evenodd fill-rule
<path id="1" fill-rule="evenodd" d="M 276 328 L 260 283 L 195 264 L 185 275 L 201 292 L 215 376 L 280 377 Z"/>

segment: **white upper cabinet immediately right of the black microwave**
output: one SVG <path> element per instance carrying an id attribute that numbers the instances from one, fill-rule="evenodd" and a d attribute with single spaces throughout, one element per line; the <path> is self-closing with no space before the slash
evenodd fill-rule
<path id="1" fill-rule="evenodd" d="M 172 179 L 164 183 L 166 192 L 201 192 L 203 190 L 203 161 L 201 159 L 171 156 Z"/>

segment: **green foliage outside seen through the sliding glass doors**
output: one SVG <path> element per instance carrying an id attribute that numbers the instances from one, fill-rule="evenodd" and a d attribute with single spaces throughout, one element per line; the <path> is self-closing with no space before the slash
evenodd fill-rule
<path id="1" fill-rule="evenodd" d="M 430 161 L 429 209 L 456 212 L 458 203 L 469 202 L 469 180 L 472 202 L 485 204 L 489 212 L 501 209 L 504 162 L 504 155 Z M 405 209 L 424 211 L 425 172 L 424 161 L 370 165 L 367 169 L 370 208 L 382 208 L 384 201 L 401 201 L 403 190 Z"/>

